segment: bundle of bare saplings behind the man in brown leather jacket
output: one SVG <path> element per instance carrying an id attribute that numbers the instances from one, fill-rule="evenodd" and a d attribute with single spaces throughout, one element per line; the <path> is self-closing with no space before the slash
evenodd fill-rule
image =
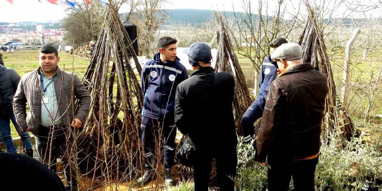
<path id="1" fill-rule="evenodd" d="M 354 133 L 358 134 L 358 131 L 354 128 L 353 121 L 337 96 L 332 68 L 326 53 L 322 30 L 317 24 L 316 14 L 308 2 L 306 2 L 306 6 L 308 8 L 308 19 L 298 43 L 303 49 L 304 62 L 311 63 L 317 70 L 328 77 L 329 93 L 326 97 L 325 107 L 327 126 L 322 128 L 323 135 L 325 138 L 329 133 L 328 131 L 333 132 L 336 128 L 339 128 L 343 132 L 343 137 L 350 140 Z"/>

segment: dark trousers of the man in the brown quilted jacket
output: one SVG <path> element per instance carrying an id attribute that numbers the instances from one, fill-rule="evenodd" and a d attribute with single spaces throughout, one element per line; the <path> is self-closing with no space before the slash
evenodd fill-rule
<path id="1" fill-rule="evenodd" d="M 38 136 L 36 136 L 37 154 L 41 162 L 57 173 L 57 157 L 60 157 L 65 171 L 66 190 L 77 191 L 77 174 L 74 163 L 69 164 L 70 158 L 75 156 L 73 150 L 73 137 L 68 133 L 64 134 L 66 129 L 55 128 L 53 136 L 50 136 L 50 129 L 45 126 L 39 126 Z M 69 138 L 67 138 L 67 136 Z M 53 140 L 52 140 L 53 138 Z M 71 157 L 70 157 L 71 156 Z"/>

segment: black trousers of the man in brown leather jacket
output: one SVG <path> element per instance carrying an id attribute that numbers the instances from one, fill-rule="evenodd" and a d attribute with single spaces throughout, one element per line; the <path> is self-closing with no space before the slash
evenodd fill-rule
<path id="1" fill-rule="evenodd" d="M 288 191 L 293 177 L 295 191 L 313 191 L 318 158 L 289 160 L 269 157 L 268 163 L 272 169 L 268 170 L 268 190 Z"/>

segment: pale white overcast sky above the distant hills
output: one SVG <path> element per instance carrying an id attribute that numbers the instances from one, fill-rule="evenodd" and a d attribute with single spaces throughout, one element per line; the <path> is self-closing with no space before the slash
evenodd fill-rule
<path id="1" fill-rule="evenodd" d="M 243 11 L 241 6 L 242 0 L 167 0 L 168 3 L 162 5 L 162 9 L 205 9 L 205 10 L 220 10 L 220 11 L 232 11 L 235 7 L 235 11 Z M 272 12 L 275 10 L 275 1 L 277 0 L 267 0 L 264 2 L 269 3 L 269 11 Z M 288 2 L 287 2 L 288 1 Z M 375 0 L 367 0 L 375 1 Z M 11 5 L 6 0 L 0 0 L 0 22 L 7 23 L 17 23 L 23 21 L 52 21 L 60 20 L 65 16 L 65 7 L 68 5 L 62 3 L 61 5 L 53 5 L 46 0 L 41 0 L 42 3 L 39 3 L 38 0 L 14 0 L 15 5 Z M 63 2 L 63 0 L 62 0 Z M 232 5 L 232 2 L 235 2 Z M 251 7 L 254 13 L 257 12 L 258 0 L 251 0 Z M 286 0 L 287 11 L 291 12 L 296 10 L 299 6 L 299 3 L 290 3 L 292 0 Z M 324 1 L 326 2 L 326 1 Z M 330 2 L 338 2 L 336 0 L 329 0 Z M 305 9 L 305 8 L 303 8 Z M 120 12 L 126 12 L 128 6 L 122 6 Z M 341 14 L 346 10 L 346 7 L 338 9 L 336 12 Z M 379 16 L 381 16 L 380 11 Z M 300 12 L 301 13 L 301 12 Z M 264 13 L 263 13 L 264 14 Z M 376 11 L 374 11 L 374 15 Z M 271 15 L 271 14 L 270 14 Z M 378 16 L 375 15 L 375 16 Z M 357 16 L 355 16 L 357 17 Z"/>

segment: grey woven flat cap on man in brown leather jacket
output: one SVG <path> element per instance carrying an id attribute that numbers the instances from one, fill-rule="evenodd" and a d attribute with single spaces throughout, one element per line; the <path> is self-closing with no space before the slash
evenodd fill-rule
<path id="1" fill-rule="evenodd" d="M 296 43 L 285 43 L 277 47 L 270 55 L 272 60 L 299 60 L 303 57 L 301 46 Z"/>

